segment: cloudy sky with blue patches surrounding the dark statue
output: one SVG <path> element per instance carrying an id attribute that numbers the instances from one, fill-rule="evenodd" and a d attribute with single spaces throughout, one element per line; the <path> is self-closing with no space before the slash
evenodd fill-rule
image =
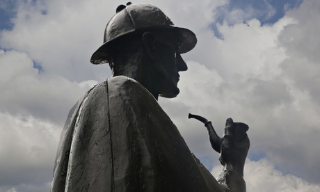
<path id="1" fill-rule="evenodd" d="M 49 191 L 67 113 L 111 77 L 91 65 L 127 1 L 0 0 L 0 192 Z M 207 129 L 188 113 L 249 125 L 247 191 L 320 191 L 320 1 L 150 3 L 198 38 L 183 54 L 180 94 L 159 98 L 191 152 L 216 177 Z M 249 24 L 250 26 L 248 26 Z"/>

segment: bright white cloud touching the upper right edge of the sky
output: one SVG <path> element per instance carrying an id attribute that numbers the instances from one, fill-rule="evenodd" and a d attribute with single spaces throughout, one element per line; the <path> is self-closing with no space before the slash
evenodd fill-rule
<path id="1" fill-rule="evenodd" d="M 287 17 L 296 19 L 296 24 L 288 25 L 279 38 L 280 45 L 287 47 L 287 54 L 291 56 L 282 64 L 285 76 L 297 88 L 310 93 L 318 107 L 320 26 L 316 21 L 320 17 L 319 7 L 319 1 L 308 0 L 299 9 L 290 10 Z"/>

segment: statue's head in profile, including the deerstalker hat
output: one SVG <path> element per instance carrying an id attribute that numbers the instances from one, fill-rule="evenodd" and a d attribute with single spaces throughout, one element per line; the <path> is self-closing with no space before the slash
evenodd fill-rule
<path id="1" fill-rule="evenodd" d="M 109 63 L 113 76 L 136 79 L 156 98 L 175 97 L 178 72 L 187 69 L 180 54 L 193 49 L 196 42 L 192 31 L 174 26 L 155 6 L 119 6 L 106 26 L 104 45 L 90 61 Z"/>

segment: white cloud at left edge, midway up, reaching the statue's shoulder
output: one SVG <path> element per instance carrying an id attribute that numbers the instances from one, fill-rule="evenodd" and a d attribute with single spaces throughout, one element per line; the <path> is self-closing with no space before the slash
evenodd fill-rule
<path id="1" fill-rule="evenodd" d="M 0 54 L 0 67 L 5 69 L 0 71 L 1 111 L 52 121 L 65 120 L 75 98 L 94 84 L 79 85 L 61 76 L 39 74 L 31 58 L 15 50 Z"/>

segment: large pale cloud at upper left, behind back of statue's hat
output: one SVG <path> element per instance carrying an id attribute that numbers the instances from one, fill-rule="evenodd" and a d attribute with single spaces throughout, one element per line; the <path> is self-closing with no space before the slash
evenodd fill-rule
<path id="1" fill-rule="evenodd" d="M 88 70 L 92 67 L 89 60 L 102 45 L 105 18 L 110 18 L 113 12 L 106 9 L 106 2 L 100 4 L 99 1 L 20 2 L 13 19 L 15 27 L 2 31 L 1 46 L 25 51 L 42 65 L 45 73 L 72 81 L 88 77 L 101 81 L 106 77 L 107 66 Z M 47 14 L 42 14 L 44 10 Z"/>

